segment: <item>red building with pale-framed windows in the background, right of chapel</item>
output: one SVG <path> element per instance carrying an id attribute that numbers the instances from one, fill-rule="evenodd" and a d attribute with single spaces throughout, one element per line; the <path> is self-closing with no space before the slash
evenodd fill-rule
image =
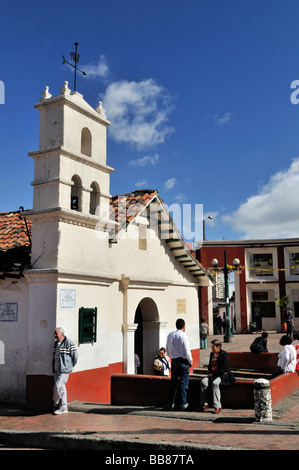
<path id="1" fill-rule="evenodd" d="M 212 271 L 213 258 L 223 267 L 224 251 L 231 267 L 234 258 L 240 260 L 240 269 L 233 272 L 237 333 L 247 333 L 251 323 L 257 329 L 280 332 L 282 312 L 275 299 L 285 295 L 299 329 L 299 239 L 204 241 L 196 253 L 203 266 Z M 208 291 L 203 288 L 202 315 L 211 322 L 209 302 Z"/>

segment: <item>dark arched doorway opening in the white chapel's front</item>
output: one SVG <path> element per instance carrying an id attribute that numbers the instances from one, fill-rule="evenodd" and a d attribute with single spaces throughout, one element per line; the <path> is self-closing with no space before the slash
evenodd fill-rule
<path id="1" fill-rule="evenodd" d="M 137 373 L 151 375 L 160 341 L 159 312 L 153 299 L 144 297 L 139 302 L 135 311 L 134 323 L 137 324 L 134 336 L 134 352 L 140 360 Z"/>

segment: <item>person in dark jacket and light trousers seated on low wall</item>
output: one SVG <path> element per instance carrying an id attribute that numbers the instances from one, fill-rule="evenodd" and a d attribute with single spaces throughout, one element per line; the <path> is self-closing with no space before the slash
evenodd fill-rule
<path id="1" fill-rule="evenodd" d="M 220 385 L 233 385 L 236 382 L 230 370 L 227 352 L 221 349 L 221 342 L 212 341 L 212 352 L 208 365 L 208 375 L 200 383 L 200 405 L 201 411 L 209 408 L 208 390 L 212 388 L 214 413 L 221 412 Z"/>

